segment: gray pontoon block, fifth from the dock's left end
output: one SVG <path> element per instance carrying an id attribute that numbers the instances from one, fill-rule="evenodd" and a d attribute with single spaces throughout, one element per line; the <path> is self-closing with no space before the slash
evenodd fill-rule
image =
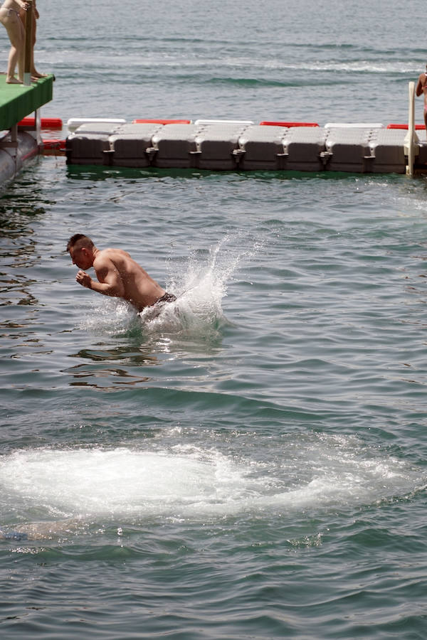
<path id="1" fill-rule="evenodd" d="M 283 168 L 283 137 L 285 127 L 264 127 L 253 124 L 238 138 L 243 151 L 239 169 L 246 171 L 278 170 Z"/>

